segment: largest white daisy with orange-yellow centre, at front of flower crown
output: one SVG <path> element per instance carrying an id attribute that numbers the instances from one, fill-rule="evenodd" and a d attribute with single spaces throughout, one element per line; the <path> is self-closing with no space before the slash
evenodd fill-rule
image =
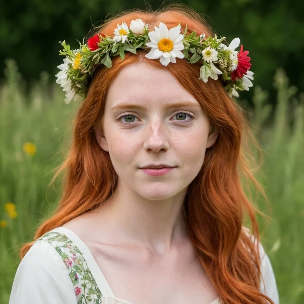
<path id="1" fill-rule="evenodd" d="M 158 59 L 165 67 L 170 63 L 176 63 L 177 58 L 184 58 L 181 50 L 184 50 L 182 40 L 184 36 L 180 34 L 181 26 L 178 25 L 172 29 L 167 28 L 163 22 L 159 22 L 159 27 L 154 26 L 154 31 L 149 32 L 151 42 L 146 43 L 147 47 L 151 47 L 148 54 L 145 55 L 148 59 Z"/>

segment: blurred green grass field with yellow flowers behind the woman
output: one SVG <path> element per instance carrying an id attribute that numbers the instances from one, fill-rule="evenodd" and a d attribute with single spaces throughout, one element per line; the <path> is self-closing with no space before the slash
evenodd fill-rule
<path id="1" fill-rule="evenodd" d="M 25 97 L 16 64 L 6 63 L 6 81 L 0 87 L 0 304 L 9 301 L 21 245 L 32 240 L 35 227 L 59 199 L 59 181 L 49 183 L 69 146 L 78 106 L 66 105 L 63 92 L 48 84 L 45 73 Z M 303 304 L 304 94 L 289 86 L 281 69 L 274 86 L 275 110 L 267 103 L 267 93 L 256 87 L 255 110 L 249 113 L 264 150 L 256 177 L 272 209 L 270 214 L 258 196 L 258 208 L 272 217 L 261 241 L 275 271 L 280 303 Z M 264 231 L 265 220 L 258 219 Z"/>

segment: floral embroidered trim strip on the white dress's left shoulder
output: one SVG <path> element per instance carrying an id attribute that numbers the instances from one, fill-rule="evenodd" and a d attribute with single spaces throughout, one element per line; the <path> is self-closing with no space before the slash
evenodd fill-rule
<path id="1" fill-rule="evenodd" d="M 102 293 L 88 268 L 81 251 L 66 235 L 59 232 L 47 232 L 37 241 L 45 240 L 60 254 L 67 266 L 77 304 L 102 303 Z"/>

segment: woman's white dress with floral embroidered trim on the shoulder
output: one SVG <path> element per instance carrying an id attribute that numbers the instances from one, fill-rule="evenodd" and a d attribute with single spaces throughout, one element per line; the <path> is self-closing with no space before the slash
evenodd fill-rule
<path id="1" fill-rule="evenodd" d="M 260 244 L 265 282 L 260 290 L 279 304 L 274 272 Z M 86 244 L 58 227 L 40 237 L 17 269 L 9 304 L 133 304 L 115 297 Z M 139 304 L 139 303 L 138 303 Z M 221 304 L 216 299 L 210 304 Z"/>

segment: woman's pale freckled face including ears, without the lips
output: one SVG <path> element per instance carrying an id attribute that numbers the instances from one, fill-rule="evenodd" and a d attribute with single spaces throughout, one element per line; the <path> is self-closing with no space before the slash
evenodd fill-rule
<path id="1" fill-rule="evenodd" d="M 103 133 L 96 130 L 96 138 L 109 152 L 119 183 L 151 200 L 169 199 L 187 188 L 217 137 L 192 94 L 169 71 L 145 62 L 119 72 L 103 118 Z M 175 168 L 151 176 L 141 169 L 149 164 Z"/>

